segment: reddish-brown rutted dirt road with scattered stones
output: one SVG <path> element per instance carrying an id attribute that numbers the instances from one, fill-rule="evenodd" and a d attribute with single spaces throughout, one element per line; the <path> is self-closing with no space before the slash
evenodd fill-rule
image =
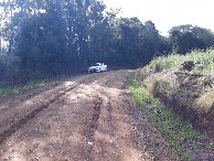
<path id="1" fill-rule="evenodd" d="M 180 160 L 128 89 L 132 71 L 84 75 L 0 97 L 0 160 Z"/>

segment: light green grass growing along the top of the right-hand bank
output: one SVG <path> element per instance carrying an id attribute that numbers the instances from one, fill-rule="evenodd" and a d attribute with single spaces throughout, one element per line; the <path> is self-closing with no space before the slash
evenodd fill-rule
<path id="1" fill-rule="evenodd" d="M 193 61 L 197 64 L 193 72 L 199 71 L 199 64 L 203 65 L 203 72 L 214 71 L 214 49 L 206 50 L 206 52 L 193 51 L 186 55 L 171 54 L 160 56 L 151 61 L 149 66 L 157 71 L 162 71 L 163 68 L 178 71 L 185 61 Z"/>

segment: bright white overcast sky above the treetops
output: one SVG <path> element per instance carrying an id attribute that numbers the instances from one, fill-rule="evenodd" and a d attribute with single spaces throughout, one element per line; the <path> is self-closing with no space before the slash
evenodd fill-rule
<path id="1" fill-rule="evenodd" d="M 214 0 L 103 0 L 107 9 L 120 9 L 121 17 L 151 20 L 160 34 L 172 26 L 193 24 L 214 32 Z"/>

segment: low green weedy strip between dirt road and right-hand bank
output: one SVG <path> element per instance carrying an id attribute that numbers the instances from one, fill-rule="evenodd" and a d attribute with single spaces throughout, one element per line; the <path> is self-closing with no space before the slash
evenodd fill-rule
<path id="1" fill-rule="evenodd" d="M 137 80 L 136 74 L 131 76 L 129 89 L 143 112 L 156 124 L 170 147 L 184 160 L 196 160 L 191 149 L 202 146 L 211 150 L 212 144 L 195 131 L 191 124 L 173 114 L 159 99 L 153 98 L 149 92 Z"/>

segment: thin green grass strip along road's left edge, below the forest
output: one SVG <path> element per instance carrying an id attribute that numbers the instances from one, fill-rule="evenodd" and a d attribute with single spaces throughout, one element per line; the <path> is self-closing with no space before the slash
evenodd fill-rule
<path id="1" fill-rule="evenodd" d="M 35 85 L 41 85 L 44 83 L 53 82 L 53 80 L 60 80 L 60 79 L 65 79 L 68 77 L 74 77 L 74 76 L 79 76 L 78 74 L 73 74 L 73 75 L 57 75 L 54 78 L 51 79 L 32 79 L 25 85 L 18 85 L 18 86 L 12 86 L 12 87 L 7 87 L 7 88 L 0 88 L 0 95 L 7 95 L 7 94 L 14 94 L 23 89 L 28 89 L 29 87 L 35 86 Z"/>

